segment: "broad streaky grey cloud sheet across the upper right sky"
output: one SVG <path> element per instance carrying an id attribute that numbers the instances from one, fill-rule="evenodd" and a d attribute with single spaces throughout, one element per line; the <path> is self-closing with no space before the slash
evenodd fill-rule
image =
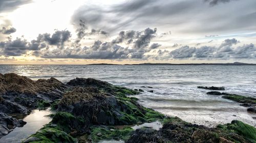
<path id="1" fill-rule="evenodd" d="M 133 29 L 158 27 L 160 30 L 172 30 L 173 33 L 200 33 L 207 37 L 209 33 L 232 33 L 234 30 L 256 30 L 252 23 L 256 1 L 247 3 L 237 1 L 226 7 L 210 7 L 229 1 L 147 1 L 132 0 L 111 6 L 84 5 L 72 16 L 77 23 L 82 19 L 89 26 L 110 34 Z M 231 2 L 231 0 L 230 0 Z M 202 13 L 204 13 L 202 15 Z M 215 21 L 215 22 L 212 22 Z M 249 22 L 247 22 L 249 21 Z M 167 34 L 167 33 L 164 33 Z M 218 35 L 209 35 L 209 37 Z"/>

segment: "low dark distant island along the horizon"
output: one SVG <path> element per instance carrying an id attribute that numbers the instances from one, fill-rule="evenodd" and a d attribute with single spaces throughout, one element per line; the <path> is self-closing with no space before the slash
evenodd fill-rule
<path id="1" fill-rule="evenodd" d="M 122 64 L 106 64 L 106 63 L 100 63 L 100 64 L 88 64 L 88 65 L 122 65 Z M 248 63 L 240 63 L 240 62 L 234 62 L 234 63 L 190 63 L 190 64 L 171 64 L 171 63 L 142 63 L 142 64 L 124 64 L 124 65 L 222 65 L 222 66 L 256 66 L 256 64 L 248 64 Z"/>

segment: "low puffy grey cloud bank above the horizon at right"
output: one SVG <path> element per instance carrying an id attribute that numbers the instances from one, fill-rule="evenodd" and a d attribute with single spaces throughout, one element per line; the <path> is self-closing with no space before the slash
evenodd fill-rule
<path id="1" fill-rule="evenodd" d="M 232 42 L 230 42 L 232 41 Z M 222 46 L 223 43 L 228 43 Z M 156 55 L 147 56 L 152 59 L 189 59 L 189 60 L 229 60 L 229 59 L 256 59 L 254 44 L 233 47 L 238 40 L 226 39 L 219 47 L 201 46 L 199 48 L 182 46 L 173 51 L 158 50 Z"/>

